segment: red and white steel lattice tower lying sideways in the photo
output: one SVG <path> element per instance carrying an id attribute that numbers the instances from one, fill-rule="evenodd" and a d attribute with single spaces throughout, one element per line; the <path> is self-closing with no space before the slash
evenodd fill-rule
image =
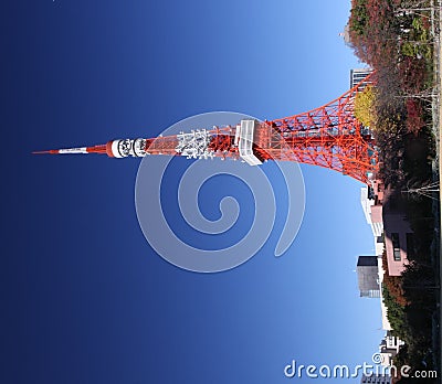
<path id="1" fill-rule="evenodd" d="M 267 160 L 296 161 L 328 168 L 369 184 L 378 170 L 378 152 L 370 129 L 357 120 L 354 111 L 356 94 L 371 82 L 371 76 L 372 73 L 319 108 L 281 119 L 246 119 L 236 126 L 34 153 L 106 153 L 114 158 L 147 154 L 193 159 L 218 157 L 241 159 L 250 166 Z"/>

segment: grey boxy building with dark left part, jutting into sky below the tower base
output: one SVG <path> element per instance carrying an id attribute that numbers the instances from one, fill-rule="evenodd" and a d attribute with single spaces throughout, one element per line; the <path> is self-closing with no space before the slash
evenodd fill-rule
<path id="1" fill-rule="evenodd" d="M 356 269 L 360 297 L 380 298 L 378 257 L 359 256 Z"/>

